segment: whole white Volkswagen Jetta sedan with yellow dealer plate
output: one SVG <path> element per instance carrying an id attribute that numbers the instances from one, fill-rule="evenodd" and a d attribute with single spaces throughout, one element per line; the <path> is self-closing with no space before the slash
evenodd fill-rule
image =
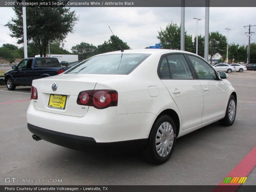
<path id="1" fill-rule="evenodd" d="M 227 74 L 196 54 L 108 52 L 33 80 L 28 129 L 34 140 L 68 148 L 137 143 L 148 160 L 162 164 L 176 138 L 215 121 L 232 125 L 236 100 Z"/>

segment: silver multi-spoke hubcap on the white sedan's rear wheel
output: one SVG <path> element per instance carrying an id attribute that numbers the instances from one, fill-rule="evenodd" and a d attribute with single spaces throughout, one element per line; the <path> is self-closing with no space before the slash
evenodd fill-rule
<path id="1" fill-rule="evenodd" d="M 156 152 L 160 157 L 165 157 L 170 153 L 173 140 L 172 125 L 169 122 L 162 123 L 156 133 Z"/>

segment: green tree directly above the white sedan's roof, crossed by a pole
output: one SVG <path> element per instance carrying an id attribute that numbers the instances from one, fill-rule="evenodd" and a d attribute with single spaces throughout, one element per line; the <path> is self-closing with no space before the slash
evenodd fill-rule
<path id="1" fill-rule="evenodd" d="M 163 49 L 180 50 L 180 26 L 176 23 L 169 23 L 165 29 L 160 28 L 156 37 L 163 45 Z M 193 52 L 192 36 L 187 35 L 187 31 L 185 31 L 185 51 Z"/>

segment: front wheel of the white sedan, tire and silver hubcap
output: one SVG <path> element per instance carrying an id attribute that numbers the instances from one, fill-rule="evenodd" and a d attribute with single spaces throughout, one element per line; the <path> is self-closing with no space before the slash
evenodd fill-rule
<path id="1" fill-rule="evenodd" d="M 226 114 L 223 119 L 220 119 L 220 124 L 225 126 L 230 126 L 234 123 L 236 118 L 236 98 L 231 95 L 228 100 L 228 106 L 226 109 Z"/>

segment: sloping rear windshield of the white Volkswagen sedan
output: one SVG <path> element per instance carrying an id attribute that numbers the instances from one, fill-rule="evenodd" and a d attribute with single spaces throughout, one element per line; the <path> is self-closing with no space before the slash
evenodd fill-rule
<path id="1" fill-rule="evenodd" d="M 141 53 L 97 55 L 84 60 L 66 73 L 127 75 L 149 55 Z"/>

